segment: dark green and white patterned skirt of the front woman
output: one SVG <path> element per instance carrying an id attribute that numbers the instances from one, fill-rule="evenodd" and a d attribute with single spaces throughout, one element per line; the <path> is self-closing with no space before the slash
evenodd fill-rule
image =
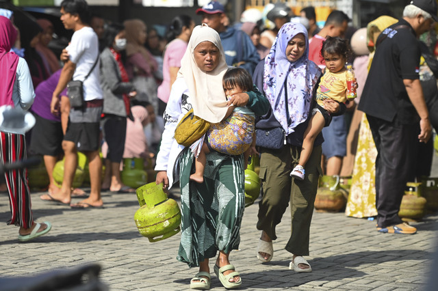
<path id="1" fill-rule="evenodd" d="M 243 156 L 207 154 L 202 184 L 189 180 L 194 154 L 185 148 L 179 157 L 181 187 L 181 243 L 177 260 L 199 266 L 217 251 L 238 249 L 244 214 Z"/>

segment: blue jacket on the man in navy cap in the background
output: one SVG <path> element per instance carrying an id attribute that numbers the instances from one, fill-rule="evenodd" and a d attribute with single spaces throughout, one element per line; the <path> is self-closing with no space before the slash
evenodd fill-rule
<path id="1" fill-rule="evenodd" d="M 242 64 L 240 68 L 244 68 L 252 76 L 255 66 L 260 61 L 260 55 L 249 36 L 244 31 L 236 30 L 233 27 L 227 27 L 226 31 L 219 33 L 219 36 L 227 65 L 235 66 L 240 61 L 244 61 L 245 64 Z"/>

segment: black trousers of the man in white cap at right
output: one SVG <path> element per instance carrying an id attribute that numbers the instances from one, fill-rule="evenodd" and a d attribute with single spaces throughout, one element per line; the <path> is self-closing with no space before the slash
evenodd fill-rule
<path id="1" fill-rule="evenodd" d="M 398 217 L 406 183 L 415 171 L 417 124 L 387 122 L 367 115 L 376 158 L 376 208 L 378 227 L 402 223 Z"/>

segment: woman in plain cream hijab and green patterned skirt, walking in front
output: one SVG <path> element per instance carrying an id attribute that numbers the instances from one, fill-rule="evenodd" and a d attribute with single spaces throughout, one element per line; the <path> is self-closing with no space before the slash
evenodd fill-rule
<path id="1" fill-rule="evenodd" d="M 266 113 L 269 102 L 260 92 L 235 94 L 228 100 L 222 88 L 227 71 L 224 50 L 218 33 L 207 25 L 194 28 L 187 51 L 181 59 L 178 77 L 172 85 L 164 120 L 162 144 L 157 154 L 157 184 L 172 186 L 179 178 L 181 188 L 181 243 L 177 259 L 199 273 L 190 288 L 209 290 L 209 258 L 216 257 L 214 271 L 225 288 L 237 288 L 242 279 L 229 262 L 232 249 L 240 243 L 240 225 L 244 212 L 243 156 L 212 151 L 202 184 L 189 182 L 194 169 L 194 153 L 174 139 L 181 116 L 190 109 L 211 123 L 220 122 L 227 105 L 247 106 L 256 115 Z"/>

